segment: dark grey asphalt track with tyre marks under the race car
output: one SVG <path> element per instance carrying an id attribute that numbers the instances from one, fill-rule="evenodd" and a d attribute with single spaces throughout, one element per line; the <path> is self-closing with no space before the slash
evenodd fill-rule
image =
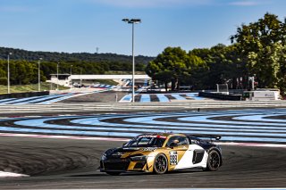
<path id="1" fill-rule="evenodd" d="M 97 171 L 102 152 L 122 142 L 0 138 L 0 170 L 31 175 L 0 178 L 2 189 L 17 188 L 179 188 L 286 187 L 285 148 L 223 145 L 223 167 L 215 172 L 189 170 L 166 175 Z"/>

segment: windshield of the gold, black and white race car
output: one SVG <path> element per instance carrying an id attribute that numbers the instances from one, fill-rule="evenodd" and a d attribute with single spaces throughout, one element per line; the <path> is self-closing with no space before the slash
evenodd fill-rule
<path id="1" fill-rule="evenodd" d="M 162 147 L 165 139 L 165 136 L 138 136 L 124 147 Z"/>

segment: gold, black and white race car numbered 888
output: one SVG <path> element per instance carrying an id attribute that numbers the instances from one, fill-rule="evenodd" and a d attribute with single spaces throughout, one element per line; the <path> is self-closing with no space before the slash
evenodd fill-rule
<path id="1" fill-rule="evenodd" d="M 126 171 L 164 174 L 177 169 L 215 171 L 223 164 L 222 150 L 214 145 L 221 136 L 184 134 L 145 134 L 119 148 L 107 150 L 100 171 L 119 175 Z"/>

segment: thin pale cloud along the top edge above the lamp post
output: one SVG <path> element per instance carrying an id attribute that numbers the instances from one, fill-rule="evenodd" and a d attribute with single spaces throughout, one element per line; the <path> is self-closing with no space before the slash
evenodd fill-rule
<path id="1" fill-rule="evenodd" d="M 180 5 L 210 4 L 213 0 L 89 0 L 90 2 L 121 7 L 172 7 Z"/>

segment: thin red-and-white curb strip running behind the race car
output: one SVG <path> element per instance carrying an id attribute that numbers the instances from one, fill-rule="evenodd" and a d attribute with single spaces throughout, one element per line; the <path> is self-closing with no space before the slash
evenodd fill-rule
<path id="1" fill-rule="evenodd" d="M 113 138 L 113 137 L 88 137 L 88 136 L 51 136 L 51 135 L 35 135 L 35 134 L 14 134 L 0 133 L 0 136 L 17 136 L 17 137 L 35 137 L 35 138 L 58 138 L 58 139 L 73 139 L 73 140 L 99 140 L 99 141 L 129 141 L 130 138 Z M 273 147 L 286 148 L 286 145 L 281 144 L 258 144 L 258 143 L 224 143 L 216 142 L 216 145 L 237 145 L 237 146 L 254 146 L 254 147 Z"/>

